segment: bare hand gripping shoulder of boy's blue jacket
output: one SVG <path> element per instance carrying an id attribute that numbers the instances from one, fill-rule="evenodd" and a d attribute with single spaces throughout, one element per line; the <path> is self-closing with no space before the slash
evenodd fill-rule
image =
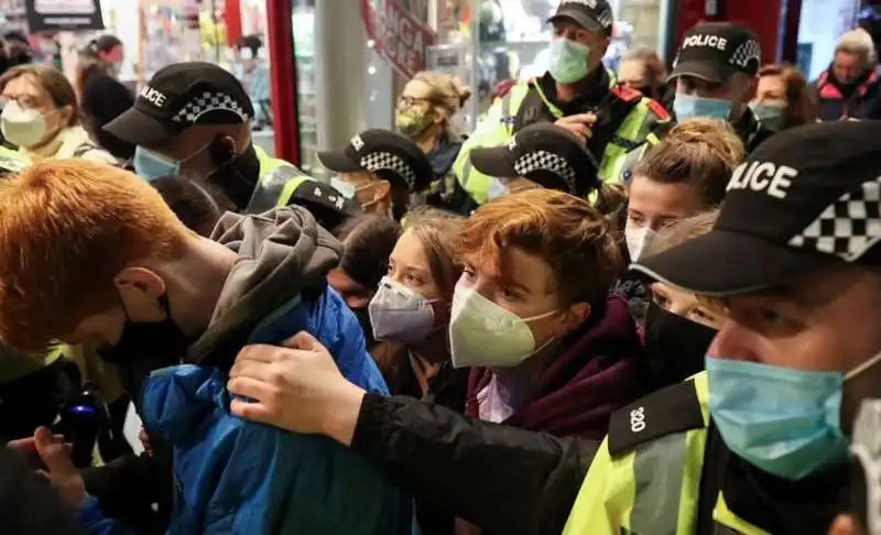
<path id="1" fill-rule="evenodd" d="M 351 444 L 365 391 L 339 373 L 327 349 L 305 331 L 286 347 L 248 346 L 230 370 L 232 414 Z"/>

